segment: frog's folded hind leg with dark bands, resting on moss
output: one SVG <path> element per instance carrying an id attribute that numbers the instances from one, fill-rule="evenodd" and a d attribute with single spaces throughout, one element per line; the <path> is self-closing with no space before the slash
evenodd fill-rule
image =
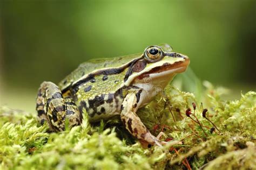
<path id="1" fill-rule="evenodd" d="M 79 125 L 82 116 L 75 102 L 71 98 L 63 98 L 56 84 L 43 82 L 37 94 L 37 114 L 41 124 L 48 122 L 53 131 L 65 130 L 65 119 L 68 119 L 69 128 Z"/>

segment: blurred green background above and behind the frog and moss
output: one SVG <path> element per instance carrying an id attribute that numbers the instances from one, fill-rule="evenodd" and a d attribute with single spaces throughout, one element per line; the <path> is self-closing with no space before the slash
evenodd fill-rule
<path id="1" fill-rule="evenodd" d="M 92 58 L 166 42 L 200 80 L 255 90 L 256 1 L 0 1 L 0 105 L 33 111 L 39 84 Z"/>

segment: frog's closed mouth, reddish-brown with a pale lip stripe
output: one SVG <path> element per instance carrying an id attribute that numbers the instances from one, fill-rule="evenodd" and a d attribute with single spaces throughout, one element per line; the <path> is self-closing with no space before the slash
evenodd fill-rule
<path id="1" fill-rule="evenodd" d="M 190 64 L 190 59 L 185 59 L 185 61 L 177 61 L 174 63 L 166 62 L 161 66 L 154 67 L 148 72 L 143 73 L 136 77 L 139 80 L 144 79 L 145 77 L 159 77 L 159 76 L 166 76 L 170 74 L 177 74 L 185 72 L 187 66 Z"/>

